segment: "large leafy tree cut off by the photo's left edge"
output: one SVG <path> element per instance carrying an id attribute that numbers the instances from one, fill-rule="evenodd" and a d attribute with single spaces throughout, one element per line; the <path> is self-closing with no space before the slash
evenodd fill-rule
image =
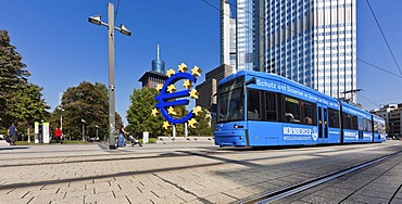
<path id="1" fill-rule="evenodd" d="M 22 62 L 22 55 L 10 44 L 7 30 L 0 30 L 0 127 L 12 122 L 20 130 L 43 119 L 49 106 L 42 99 L 42 88 L 28 82 L 30 73 Z"/>

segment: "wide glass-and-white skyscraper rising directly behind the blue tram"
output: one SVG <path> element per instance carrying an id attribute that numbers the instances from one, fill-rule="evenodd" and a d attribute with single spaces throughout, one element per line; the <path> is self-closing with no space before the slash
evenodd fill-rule
<path id="1" fill-rule="evenodd" d="M 237 69 L 355 102 L 355 0 L 237 0 Z"/>

